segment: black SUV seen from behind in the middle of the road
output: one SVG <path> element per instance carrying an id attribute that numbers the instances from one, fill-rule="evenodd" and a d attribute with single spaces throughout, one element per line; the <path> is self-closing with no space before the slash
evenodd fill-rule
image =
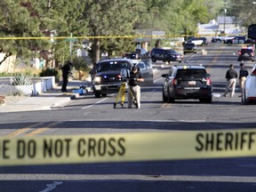
<path id="1" fill-rule="evenodd" d="M 174 66 L 162 77 L 164 102 L 191 99 L 212 103 L 212 81 L 203 66 Z"/>

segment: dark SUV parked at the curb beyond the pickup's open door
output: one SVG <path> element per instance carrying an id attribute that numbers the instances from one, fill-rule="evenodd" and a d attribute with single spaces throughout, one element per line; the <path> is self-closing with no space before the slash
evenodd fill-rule
<path id="1" fill-rule="evenodd" d="M 156 60 L 162 60 L 163 62 L 179 61 L 183 60 L 183 55 L 172 49 L 160 49 L 154 48 L 150 52 L 151 60 L 156 62 Z"/>

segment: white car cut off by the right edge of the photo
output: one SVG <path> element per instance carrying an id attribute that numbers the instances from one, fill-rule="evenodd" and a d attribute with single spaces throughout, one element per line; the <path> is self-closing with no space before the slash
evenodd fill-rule
<path id="1" fill-rule="evenodd" d="M 256 104 L 256 64 L 252 68 L 252 73 L 247 76 L 244 82 L 241 104 Z"/>

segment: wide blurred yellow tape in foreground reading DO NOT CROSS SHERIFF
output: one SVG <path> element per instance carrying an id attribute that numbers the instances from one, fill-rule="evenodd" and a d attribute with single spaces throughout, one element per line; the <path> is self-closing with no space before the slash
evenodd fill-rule
<path id="1" fill-rule="evenodd" d="M 2 137 L 0 165 L 256 156 L 256 129 Z"/>

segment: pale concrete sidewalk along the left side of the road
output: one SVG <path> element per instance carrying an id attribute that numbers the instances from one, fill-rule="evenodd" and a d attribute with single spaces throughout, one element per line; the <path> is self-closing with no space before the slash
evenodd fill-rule
<path id="1" fill-rule="evenodd" d="M 53 90 L 44 92 L 38 96 L 20 97 L 18 100 L 8 102 L 0 106 L 0 113 L 4 112 L 19 112 L 33 110 L 49 110 L 68 103 L 70 100 L 76 99 L 78 93 L 72 92 L 79 89 L 80 86 L 85 86 L 88 91 L 91 91 L 90 82 L 85 81 L 70 81 L 68 82 L 68 92 L 61 92 L 61 84 L 58 84 Z M 19 97 L 19 96 L 15 96 Z"/>

